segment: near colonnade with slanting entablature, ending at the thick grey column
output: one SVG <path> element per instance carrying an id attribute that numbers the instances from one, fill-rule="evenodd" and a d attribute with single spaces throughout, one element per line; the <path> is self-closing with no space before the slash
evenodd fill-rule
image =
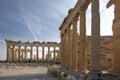
<path id="1" fill-rule="evenodd" d="M 100 72 L 100 14 L 99 0 L 92 3 L 92 48 L 90 72 Z M 69 10 L 63 21 L 61 31 L 62 67 L 73 71 L 85 72 L 85 44 L 86 44 L 86 10 L 90 1 L 79 1 L 74 9 Z M 78 20 L 80 33 L 78 34 Z M 80 37 L 78 37 L 80 36 Z M 78 41 L 80 40 L 80 41 Z M 78 44 L 79 42 L 79 44 Z M 80 47 L 78 47 L 80 45 Z"/>

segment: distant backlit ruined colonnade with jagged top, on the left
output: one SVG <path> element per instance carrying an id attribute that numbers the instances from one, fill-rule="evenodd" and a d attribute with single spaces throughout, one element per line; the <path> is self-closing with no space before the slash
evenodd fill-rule
<path id="1" fill-rule="evenodd" d="M 60 44 L 57 42 L 21 42 L 5 40 L 7 46 L 7 61 L 56 61 L 59 59 L 59 47 Z M 35 54 L 33 54 L 36 48 Z M 42 58 L 39 58 L 41 49 Z M 47 54 L 45 55 L 45 48 L 47 48 Z M 53 51 L 51 51 L 53 48 Z M 56 49 L 58 48 L 58 49 Z M 52 54 L 53 53 L 53 58 Z M 29 56 L 29 57 L 28 57 Z"/>

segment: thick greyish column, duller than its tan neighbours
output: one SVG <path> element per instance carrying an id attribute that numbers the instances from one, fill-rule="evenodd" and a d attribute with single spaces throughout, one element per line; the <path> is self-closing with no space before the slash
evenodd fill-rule
<path id="1" fill-rule="evenodd" d="M 90 72 L 100 72 L 100 14 L 99 0 L 92 0 L 92 44 Z"/>

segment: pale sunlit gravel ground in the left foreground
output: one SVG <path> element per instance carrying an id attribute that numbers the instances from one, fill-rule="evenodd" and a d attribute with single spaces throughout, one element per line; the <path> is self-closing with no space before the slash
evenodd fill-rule
<path id="1" fill-rule="evenodd" d="M 0 80 L 57 80 L 45 67 L 2 67 Z"/>

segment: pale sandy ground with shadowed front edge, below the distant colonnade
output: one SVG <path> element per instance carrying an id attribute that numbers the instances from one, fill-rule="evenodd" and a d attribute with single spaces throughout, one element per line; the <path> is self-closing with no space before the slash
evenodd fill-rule
<path id="1" fill-rule="evenodd" d="M 36 63 L 0 63 L 0 80 L 57 80 L 48 65 Z"/>

